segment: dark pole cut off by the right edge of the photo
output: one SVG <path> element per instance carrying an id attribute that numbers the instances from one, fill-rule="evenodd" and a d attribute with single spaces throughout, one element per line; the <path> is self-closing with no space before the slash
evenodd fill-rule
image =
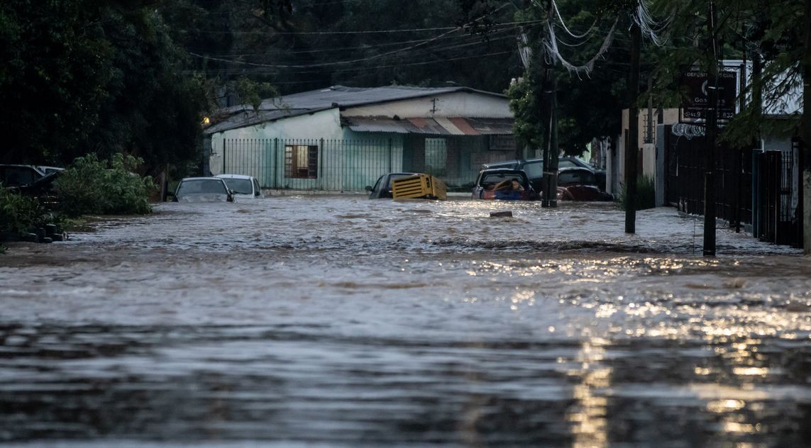
<path id="1" fill-rule="evenodd" d="M 803 253 L 811 255 L 811 0 L 805 0 L 805 75 L 803 77 L 802 147 Z"/>

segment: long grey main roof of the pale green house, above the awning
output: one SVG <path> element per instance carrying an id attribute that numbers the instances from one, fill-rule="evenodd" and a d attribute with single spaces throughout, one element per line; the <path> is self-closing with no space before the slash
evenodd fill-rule
<path id="1" fill-rule="evenodd" d="M 505 98 L 494 92 L 484 92 L 470 87 L 344 87 L 333 86 L 310 92 L 294 93 L 262 101 L 258 110 L 251 105 L 238 105 L 220 109 L 214 115 L 223 117 L 212 126 L 204 129 L 205 134 L 214 134 L 224 130 L 252 126 L 261 122 L 270 122 L 285 117 L 295 117 L 320 110 L 372 105 L 396 100 L 409 100 L 423 96 L 433 96 L 453 92 L 474 92 L 483 95 Z M 374 132 L 374 131 L 372 131 Z M 381 131 L 389 132 L 389 131 Z M 431 133 L 426 130 L 425 133 Z M 439 126 L 435 134 L 447 133 Z"/>

